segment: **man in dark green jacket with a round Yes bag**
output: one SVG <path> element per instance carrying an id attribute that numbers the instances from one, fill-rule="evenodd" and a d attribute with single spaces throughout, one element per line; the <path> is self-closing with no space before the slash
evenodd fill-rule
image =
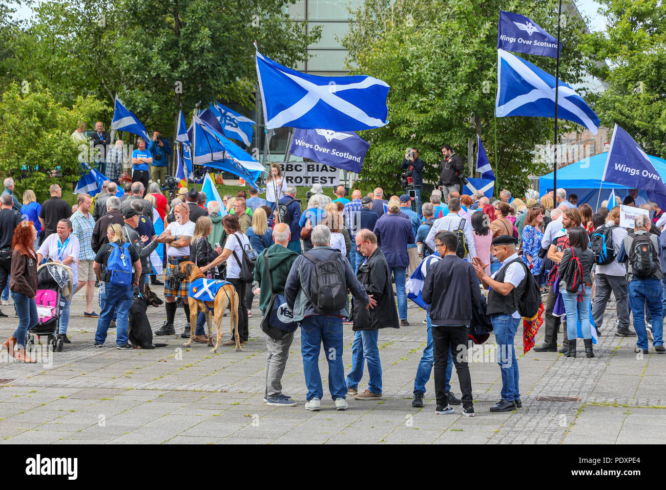
<path id="1" fill-rule="evenodd" d="M 270 269 L 270 279 L 273 284 L 273 291 L 284 295 L 284 283 L 292 264 L 298 257 L 298 253 L 287 248 L 289 244 L 290 231 L 285 223 L 278 223 L 273 229 L 274 245 L 264 249 L 257 257 L 254 266 L 254 280 L 261 288 L 259 294 L 259 308 L 264 317 L 270 315 L 268 303 L 272 291 L 268 285 L 268 273 L 264 270 L 264 255 L 268 255 L 268 269 Z M 272 407 L 293 407 L 296 402 L 282 394 L 282 373 L 289 357 L 289 348 L 294 340 L 294 333 L 291 332 L 282 340 L 274 340 L 266 335 L 266 347 L 268 347 L 268 356 L 266 357 L 266 397 L 264 400 Z"/>

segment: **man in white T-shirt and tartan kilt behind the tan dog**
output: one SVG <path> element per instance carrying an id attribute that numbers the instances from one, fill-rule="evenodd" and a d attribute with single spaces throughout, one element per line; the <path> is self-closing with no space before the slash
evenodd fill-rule
<path id="1" fill-rule="evenodd" d="M 176 220 L 169 223 L 155 241 L 158 243 L 168 243 L 166 249 L 166 273 L 165 273 L 165 299 L 166 299 L 166 320 L 162 328 L 155 331 L 155 335 L 174 335 L 176 329 L 173 327 L 173 319 L 176 316 L 176 298 L 187 297 L 190 289 L 190 281 L 182 281 L 178 289 L 169 287 L 168 278 L 178 271 L 178 265 L 182 261 L 189 260 L 190 240 L 194 235 L 194 223 L 190 221 L 190 209 L 185 203 L 178 203 L 174 208 L 174 217 Z M 190 335 L 190 305 L 183 301 L 187 325 L 185 333 Z"/>

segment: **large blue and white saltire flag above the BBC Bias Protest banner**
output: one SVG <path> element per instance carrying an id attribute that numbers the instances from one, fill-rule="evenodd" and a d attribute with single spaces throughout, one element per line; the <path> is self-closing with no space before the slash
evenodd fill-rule
<path id="1" fill-rule="evenodd" d="M 318 77 L 284 67 L 256 51 L 267 129 L 358 131 L 387 124 L 386 82 L 365 75 Z"/>

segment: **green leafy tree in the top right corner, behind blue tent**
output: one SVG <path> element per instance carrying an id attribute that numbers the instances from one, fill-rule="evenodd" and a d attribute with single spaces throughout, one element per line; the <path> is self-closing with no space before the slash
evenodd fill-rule
<path id="1" fill-rule="evenodd" d="M 651 155 L 666 157 L 666 5 L 658 0 L 599 0 L 605 32 L 584 49 L 605 61 L 590 73 L 608 89 L 595 97 L 601 123 L 623 127 Z"/>

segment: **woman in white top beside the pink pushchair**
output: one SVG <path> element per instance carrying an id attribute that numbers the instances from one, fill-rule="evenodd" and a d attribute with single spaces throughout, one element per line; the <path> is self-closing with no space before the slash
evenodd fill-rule
<path id="1" fill-rule="evenodd" d="M 37 263 L 41 263 L 43 259 L 51 259 L 52 262 L 59 262 L 71 267 L 72 291 L 76 291 L 79 279 L 79 269 L 77 267 L 79 251 L 81 251 L 81 244 L 76 235 L 72 234 L 71 221 L 69 219 L 61 219 L 58 221 L 56 233 L 49 235 L 41 247 L 39 247 L 39 250 L 37 250 Z M 69 297 L 69 301 L 67 301 L 67 304 L 61 311 L 60 331 L 58 332 L 60 338 L 67 344 L 71 343 L 67 338 L 67 326 L 69 325 L 69 307 L 72 298 L 73 295 Z"/>

